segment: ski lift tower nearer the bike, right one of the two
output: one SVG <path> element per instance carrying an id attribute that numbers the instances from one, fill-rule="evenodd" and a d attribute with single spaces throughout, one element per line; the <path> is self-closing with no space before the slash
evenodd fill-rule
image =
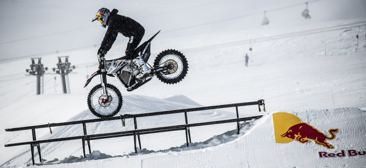
<path id="1" fill-rule="evenodd" d="M 65 57 L 65 62 L 61 61 L 61 58 L 63 58 L 63 57 Z M 70 68 L 71 63 L 68 62 L 68 56 L 59 56 L 57 58 L 59 59 L 59 62 L 56 64 L 57 70 L 56 70 L 56 68 L 52 68 L 52 70 L 53 70 L 53 72 L 56 72 L 57 74 L 61 74 L 63 92 L 65 94 L 67 94 L 67 93 L 70 94 L 70 82 L 69 82 L 68 74 L 70 72 L 72 72 L 72 69 L 75 69 L 75 65 L 72 66 L 72 69 Z M 66 83 L 67 83 L 67 85 L 66 85 Z"/>

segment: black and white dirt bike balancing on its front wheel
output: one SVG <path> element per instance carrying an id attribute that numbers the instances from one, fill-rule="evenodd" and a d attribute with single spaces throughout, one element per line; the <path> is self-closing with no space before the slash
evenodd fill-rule
<path id="1" fill-rule="evenodd" d="M 159 32 L 135 49 L 136 55 L 138 56 L 139 53 L 146 63 L 150 57 L 151 41 Z M 90 83 L 93 77 L 101 75 L 101 84 L 94 86 L 87 97 L 90 112 L 100 118 L 112 117 L 122 107 L 122 95 L 117 87 L 107 83 L 107 76 L 116 77 L 127 88 L 127 91 L 133 91 L 150 81 L 153 76 L 164 83 L 176 84 L 186 76 L 188 71 L 186 57 L 176 50 L 160 52 L 155 58 L 153 66 L 147 63 L 151 72 L 140 79 L 136 76 L 141 73 L 141 67 L 135 65 L 132 60 L 126 59 L 126 56 L 113 60 L 98 57 L 98 61 L 98 71 L 87 79 L 84 87 Z"/>

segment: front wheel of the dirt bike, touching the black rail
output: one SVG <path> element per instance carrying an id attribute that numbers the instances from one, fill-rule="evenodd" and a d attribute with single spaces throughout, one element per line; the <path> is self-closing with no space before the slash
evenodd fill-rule
<path id="1" fill-rule="evenodd" d="M 112 117 L 122 107 L 121 92 L 113 85 L 107 84 L 107 100 L 103 98 L 102 84 L 94 86 L 88 95 L 87 103 L 91 113 L 99 118 Z"/>

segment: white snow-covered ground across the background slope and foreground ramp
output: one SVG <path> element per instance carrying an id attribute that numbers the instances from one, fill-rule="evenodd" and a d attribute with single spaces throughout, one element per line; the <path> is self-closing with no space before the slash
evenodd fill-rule
<path id="1" fill-rule="evenodd" d="M 47 160 L 44 162 L 45 165 L 41 166 L 118 167 L 123 164 L 130 167 L 172 167 L 173 164 L 179 163 L 177 167 L 365 167 L 365 156 L 320 159 L 317 157 L 317 151 L 323 150 L 324 147 L 314 142 L 276 144 L 272 137 L 271 123 L 273 112 L 288 112 L 296 114 L 303 122 L 309 122 L 325 134 L 328 134 L 328 129 L 336 124 L 334 126 L 340 131 L 336 134 L 336 139 L 330 142 L 341 143 L 335 145 L 335 152 L 351 149 L 365 151 L 366 118 L 363 110 L 366 110 L 366 48 L 362 47 L 365 36 L 360 36 L 361 47 L 355 50 L 354 36 L 358 29 L 184 52 L 189 51 L 189 48 L 211 44 L 358 21 L 363 20 L 312 23 L 306 27 L 247 29 L 168 39 L 157 36 L 152 42 L 152 56 L 149 63 L 152 64 L 154 60 L 153 54 L 156 55 L 165 49 L 177 49 L 187 57 L 188 74 L 183 81 L 175 85 L 166 85 L 153 79 L 133 92 L 127 92 L 118 81 L 108 78 L 108 83 L 116 85 L 123 95 L 123 106 L 119 114 L 158 112 L 264 99 L 266 113 L 258 112 L 255 106 L 239 107 L 239 116 L 264 114 L 266 116 L 251 124 L 244 123 L 242 127 L 245 129 L 239 135 L 233 133 L 235 123 L 191 128 L 192 141 L 196 145 L 188 148 L 184 147 L 184 131 L 143 135 L 141 136 L 143 149 L 137 155 L 133 152 L 132 137 L 91 141 L 91 149 L 95 151 L 87 159 L 79 158 L 82 155 L 79 140 L 41 144 L 42 158 Z M 360 34 L 365 34 L 365 30 L 361 29 Z M 145 35 L 143 41 L 149 38 Z M 115 44 L 108 52 L 107 59 L 122 56 L 125 47 L 124 43 Z M 245 53 L 250 56 L 249 47 L 253 48 L 253 55 L 250 57 L 249 66 L 245 67 L 244 56 Z M 97 66 L 93 65 L 97 62 L 95 53 L 96 48 L 87 48 L 42 57 L 42 63 L 52 69 L 57 63 L 57 56 L 70 56 L 69 61 L 77 67 L 75 73 L 69 74 L 71 94 L 61 93 L 60 76 L 47 74 L 44 80 L 44 95 L 35 95 L 36 77 L 24 76 L 25 69 L 29 68 L 30 59 L 0 63 L 2 73 L 0 98 L 5 100 L 0 106 L 1 129 L 95 118 L 87 109 L 86 96 L 99 80 L 94 78 L 87 88 L 82 88 L 86 76 L 97 70 Z M 21 68 L 8 72 L 7 69 L 12 67 Z M 235 117 L 234 108 L 207 110 L 189 113 L 188 123 Z M 146 117 L 137 122 L 138 128 L 179 125 L 184 124 L 184 115 Z M 122 127 L 120 121 L 87 124 L 88 134 L 131 129 L 134 129 L 131 120 L 126 120 L 126 127 Z M 231 133 L 223 135 L 227 131 Z M 52 128 L 52 135 L 49 134 L 48 128 L 37 129 L 36 132 L 37 140 L 41 140 L 82 135 L 82 127 L 79 125 Z M 30 140 L 29 130 L 0 131 L 0 166 L 27 167 L 31 163 L 29 146 L 4 147 L 4 145 Z M 171 147 L 173 148 L 170 149 Z M 324 148 L 324 151 L 330 150 Z M 311 157 L 304 158 L 301 153 Z M 39 161 L 37 153 L 35 156 L 36 162 Z M 59 161 L 53 161 L 54 158 Z M 51 161 L 64 164 L 49 164 Z M 74 161 L 77 162 L 71 163 Z"/>

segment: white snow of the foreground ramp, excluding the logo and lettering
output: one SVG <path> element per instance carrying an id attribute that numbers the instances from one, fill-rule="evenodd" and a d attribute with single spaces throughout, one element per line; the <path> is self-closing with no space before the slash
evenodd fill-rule
<path id="1" fill-rule="evenodd" d="M 264 117 L 240 125 L 236 130 L 214 136 L 205 142 L 185 144 L 167 150 L 138 150 L 123 156 L 110 156 L 100 151 L 87 154 L 86 158 L 69 156 L 63 160 L 44 160 L 38 167 L 365 167 L 365 156 L 319 158 L 319 151 L 339 153 L 341 150 L 359 149 L 365 151 L 366 111 L 357 108 L 337 108 L 324 110 L 285 111 L 311 123 L 322 132 L 338 128 L 332 140 L 335 149 L 325 149 L 314 142 L 306 144 L 290 142 L 275 143 L 272 112 Z M 327 119 L 325 119 L 327 118 Z M 328 122 L 324 122 L 324 119 Z M 265 157 L 269 156 L 269 157 Z M 301 158 L 301 159 L 299 159 Z M 101 161 L 98 161 L 101 160 Z M 86 162 L 88 161 L 88 162 Z M 30 164 L 22 165 L 28 167 Z M 92 166 L 93 167 L 93 166 Z"/>

